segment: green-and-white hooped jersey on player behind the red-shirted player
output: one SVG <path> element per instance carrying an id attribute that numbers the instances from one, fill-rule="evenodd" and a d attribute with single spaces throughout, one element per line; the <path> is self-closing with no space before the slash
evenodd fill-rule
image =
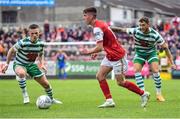
<path id="1" fill-rule="evenodd" d="M 155 31 L 153 28 L 149 28 L 149 33 L 144 34 L 140 27 L 127 28 L 128 34 L 134 36 L 135 38 L 135 51 L 139 55 L 149 55 L 151 53 L 156 53 L 157 45 L 162 45 L 165 40 L 162 36 Z"/>

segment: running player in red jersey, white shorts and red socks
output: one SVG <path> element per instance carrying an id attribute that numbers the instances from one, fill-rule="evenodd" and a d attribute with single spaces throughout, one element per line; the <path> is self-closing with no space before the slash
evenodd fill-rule
<path id="1" fill-rule="evenodd" d="M 141 96 L 141 106 L 145 107 L 150 97 L 149 92 L 144 92 L 134 83 L 125 80 L 124 72 L 127 70 L 126 52 L 118 42 L 116 36 L 109 26 L 100 20 L 96 19 L 97 10 L 94 7 L 89 7 L 83 10 L 83 19 L 87 25 L 93 27 L 93 34 L 96 40 L 96 46 L 92 49 L 83 49 L 81 54 L 96 56 L 96 53 L 104 50 L 106 56 L 101 62 L 100 69 L 96 74 L 100 88 L 106 98 L 106 101 L 98 106 L 99 108 L 115 107 L 111 92 L 106 82 L 106 76 L 114 70 L 117 84 Z"/>

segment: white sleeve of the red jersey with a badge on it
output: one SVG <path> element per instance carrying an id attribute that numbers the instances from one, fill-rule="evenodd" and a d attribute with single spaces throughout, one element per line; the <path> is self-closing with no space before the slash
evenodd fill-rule
<path id="1" fill-rule="evenodd" d="M 104 33 L 101 30 L 101 28 L 95 27 L 94 30 L 93 30 L 93 33 L 94 33 L 94 38 L 96 40 L 96 43 L 100 42 L 100 41 L 103 41 Z"/>

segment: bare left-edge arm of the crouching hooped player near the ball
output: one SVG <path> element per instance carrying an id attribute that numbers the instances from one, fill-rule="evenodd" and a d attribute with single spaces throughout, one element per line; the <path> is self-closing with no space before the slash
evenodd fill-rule
<path id="1" fill-rule="evenodd" d="M 11 61 L 11 58 L 12 56 L 16 53 L 16 50 L 14 49 L 14 46 L 11 47 L 8 51 L 8 54 L 7 54 L 7 60 L 6 60 L 6 64 L 3 66 L 2 68 L 2 73 L 5 73 L 6 70 L 8 69 L 8 66 L 9 66 L 9 63 Z"/>

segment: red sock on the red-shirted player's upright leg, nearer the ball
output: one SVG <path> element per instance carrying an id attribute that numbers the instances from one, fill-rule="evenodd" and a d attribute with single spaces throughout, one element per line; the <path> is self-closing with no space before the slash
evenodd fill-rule
<path id="1" fill-rule="evenodd" d="M 99 85 L 106 99 L 112 98 L 107 81 L 105 79 L 101 80 Z"/>

